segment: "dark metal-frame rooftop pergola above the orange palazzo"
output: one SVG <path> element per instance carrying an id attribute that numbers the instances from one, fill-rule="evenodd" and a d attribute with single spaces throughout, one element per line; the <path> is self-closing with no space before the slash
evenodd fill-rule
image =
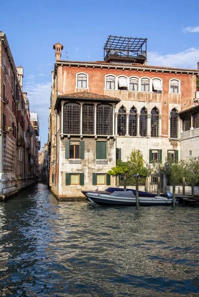
<path id="1" fill-rule="evenodd" d="M 104 60 L 147 60 L 147 38 L 109 36 L 104 45 Z"/>

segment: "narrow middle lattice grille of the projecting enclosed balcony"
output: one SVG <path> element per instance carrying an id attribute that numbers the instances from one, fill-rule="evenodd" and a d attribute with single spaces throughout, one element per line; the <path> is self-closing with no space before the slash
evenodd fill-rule
<path id="1" fill-rule="evenodd" d="M 83 134 L 94 134 L 94 105 L 83 105 Z"/>

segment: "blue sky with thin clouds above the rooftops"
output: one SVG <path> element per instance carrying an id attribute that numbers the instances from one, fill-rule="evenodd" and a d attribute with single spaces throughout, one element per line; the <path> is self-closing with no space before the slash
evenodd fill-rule
<path id="1" fill-rule="evenodd" d="M 9 0 L 0 30 L 16 66 L 23 66 L 23 92 L 37 112 L 41 146 L 48 141 L 53 44 L 63 60 L 103 60 L 109 35 L 147 38 L 148 65 L 197 69 L 198 0 Z"/>

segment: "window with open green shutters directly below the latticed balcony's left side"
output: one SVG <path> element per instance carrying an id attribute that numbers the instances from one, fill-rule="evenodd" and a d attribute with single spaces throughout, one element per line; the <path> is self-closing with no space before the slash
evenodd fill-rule
<path id="1" fill-rule="evenodd" d="M 84 140 L 65 141 L 65 159 L 84 159 Z"/>

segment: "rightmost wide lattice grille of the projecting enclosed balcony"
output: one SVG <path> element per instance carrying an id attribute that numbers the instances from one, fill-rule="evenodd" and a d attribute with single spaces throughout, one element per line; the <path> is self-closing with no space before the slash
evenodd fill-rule
<path id="1" fill-rule="evenodd" d="M 112 106 L 97 106 L 97 135 L 111 135 Z"/>

